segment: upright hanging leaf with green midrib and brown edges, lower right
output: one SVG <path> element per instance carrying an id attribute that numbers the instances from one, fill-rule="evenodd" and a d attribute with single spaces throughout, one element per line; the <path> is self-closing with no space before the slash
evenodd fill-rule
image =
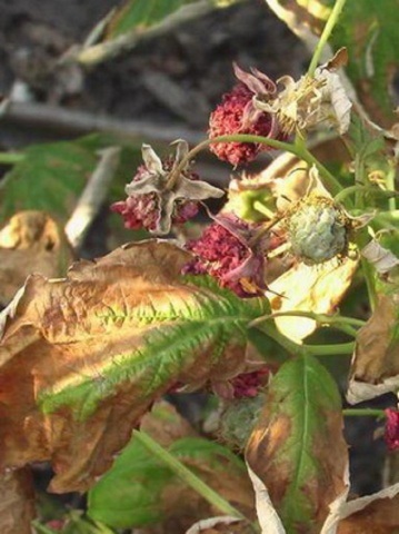
<path id="1" fill-rule="evenodd" d="M 287 534 L 319 533 L 329 505 L 346 492 L 348 454 L 337 385 L 316 358 L 281 366 L 246 457 Z"/>

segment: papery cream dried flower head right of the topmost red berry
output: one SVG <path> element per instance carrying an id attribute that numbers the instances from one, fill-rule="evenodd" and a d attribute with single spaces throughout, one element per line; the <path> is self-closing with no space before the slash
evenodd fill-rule
<path id="1" fill-rule="evenodd" d="M 277 83 L 282 86 L 271 101 L 255 99 L 255 106 L 275 113 L 286 134 L 306 131 L 320 123 L 333 127 L 340 135 L 350 123 L 351 102 L 336 70 L 347 60 L 343 49 L 328 63 L 316 69 L 315 77 L 302 76 L 298 81 L 283 76 Z"/>

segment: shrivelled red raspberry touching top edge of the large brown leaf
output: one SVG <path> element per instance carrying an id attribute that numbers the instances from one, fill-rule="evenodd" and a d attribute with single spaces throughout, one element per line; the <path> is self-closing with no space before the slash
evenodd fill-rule
<path id="1" fill-rule="evenodd" d="M 186 245 L 197 257 L 183 274 L 211 275 L 240 297 L 262 295 L 265 255 L 259 247 L 249 246 L 250 236 L 251 228 L 243 220 L 232 214 L 219 216 L 199 239 Z"/>

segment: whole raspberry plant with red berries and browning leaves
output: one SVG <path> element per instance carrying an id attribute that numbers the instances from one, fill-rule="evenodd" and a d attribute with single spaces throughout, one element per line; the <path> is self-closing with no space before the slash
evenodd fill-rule
<path id="1" fill-rule="evenodd" d="M 201 2 L 182 3 L 164 11 L 156 2 L 153 23 L 179 9 L 187 17 Z M 28 277 L 0 317 L 0 466 L 13 503 L 11 523 L 0 508 L 3 532 L 30 531 L 27 466 L 43 461 L 54 472 L 50 490 L 88 492 L 88 508 L 87 518 L 39 518 L 37 532 L 170 528 L 177 520 L 173 532 L 190 534 L 399 528 L 397 472 L 379 493 L 348 497 L 342 433 L 345 419 L 375 417 L 389 454 L 399 447 L 398 125 L 386 72 L 367 98 L 361 86 L 356 101 L 340 78 L 349 57 L 350 79 L 362 79 L 361 47 L 343 37 L 368 2 L 323 3 L 326 23 L 308 27 L 320 38 L 302 77 L 271 80 L 235 63 L 237 85 L 212 111 L 207 139 L 191 149 L 171 140 L 164 157 L 142 145 L 127 198 L 110 209 L 128 229 L 146 230 L 144 239 L 78 261 L 60 278 L 70 253 L 61 228 L 51 226 L 50 239 L 47 216 L 34 214 L 4 225 L 2 246 L 18 250 L 14 261 L 27 258 L 16 236 L 28 219 L 40 230 L 34 246 L 43 246 L 34 260 L 54 246 L 59 255 L 49 273 L 38 260 L 42 274 Z M 129 20 L 143 22 L 140 4 L 128 2 L 103 42 L 88 41 L 74 60 L 94 63 L 126 46 Z M 373 31 L 380 19 L 369 8 Z M 376 47 L 387 51 L 379 36 Z M 329 152 L 345 147 L 338 166 L 322 156 L 320 136 Z M 90 170 L 101 144 L 47 146 L 48 157 L 66 156 L 68 191 L 77 186 L 69 168 Z M 101 184 L 123 149 L 102 151 Z M 194 157 L 207 149 L 236 171 L 226 190 L 196 172 Z M 3 214 L 13 208 L 16 176 L 38 151 L 2 155 L 14 158 Z M 276 161 L 245 172 L 265 151 Z M 277 162 L 289 155 L 281 170 Z M 211 212 L 206 201 L 222 197 Z M 201 210 L 207 222 L 198 226 Z M 28 234 L 22 248 L 31 247 Z M 339 359 L 350 357 L 342 392 Z M 160 402 L 193 390 L 213 403 L 200 429 Z M 385 394 L 386 409 L 376 408 L 371 400 Z"/>

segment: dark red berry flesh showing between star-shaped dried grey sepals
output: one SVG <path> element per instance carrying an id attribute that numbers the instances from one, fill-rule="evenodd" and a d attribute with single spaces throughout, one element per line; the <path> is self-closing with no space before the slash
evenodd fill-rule
<path id="1" fill-rule="evenodd" d="M 170 158 L 162 162 L 162 167 L 166 171 L 170 171 L 172 166 L 173 161 Z M 146 165 L 141 165 L 137 169 L 132 182 L 141 180 L 148 171 L 149 169 Z M 188 172 L 186 177 L 190 180 L 199 179 L 198 175 L 194 172 Z M 161 216 L 159 196 L 153 191 L 142 195 L 129 195 L 126 200 L 112 204 L 111 210 L 121 215 L 123 217 L 124 227 L 132 230 L 146 228 L 147 230 L 153 231 L 157 229 Z M 172 221 L 176 224 L 182 224 L 196 217 L 197 214 L 198 202 L 179 199 L 174 204 Z"/>

